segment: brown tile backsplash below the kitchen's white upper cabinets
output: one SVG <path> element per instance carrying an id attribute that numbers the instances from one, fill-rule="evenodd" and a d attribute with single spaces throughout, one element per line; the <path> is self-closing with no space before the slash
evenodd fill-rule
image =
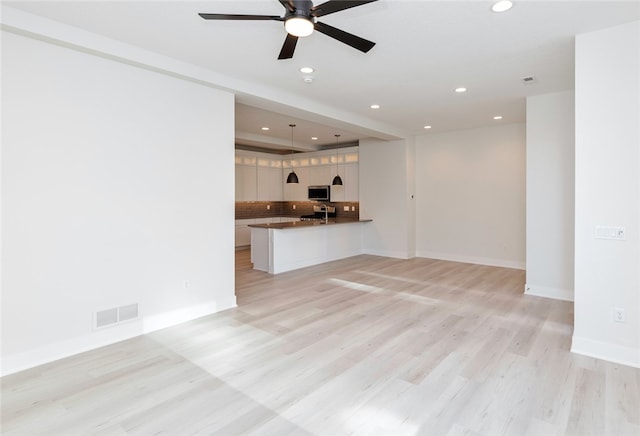
<path id="1" fill-rule="evenodd" d="M 338 218 L 360 218 L 360 204 L 357 201 L 236 201 L 236 219 L 269 218 L 275 216 L 300 217 L 313 213 L 313 206 L 327 204 L 336 208 Z M 294 209 L 295 206 L 295 209 Z M 348 206 L 349 211 L 345 211 Z M 355 210 L 351 210 L 355 209 Z"/>

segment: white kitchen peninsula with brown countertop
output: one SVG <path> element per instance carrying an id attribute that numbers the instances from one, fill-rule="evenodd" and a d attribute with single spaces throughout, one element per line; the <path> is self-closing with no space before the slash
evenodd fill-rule
<path id="1" fill-rule="evenodd" d="M 368 222 L 337 218 L 251 224 L 253 268 L 279 274 L 362 254 L 362 233 Z"/>

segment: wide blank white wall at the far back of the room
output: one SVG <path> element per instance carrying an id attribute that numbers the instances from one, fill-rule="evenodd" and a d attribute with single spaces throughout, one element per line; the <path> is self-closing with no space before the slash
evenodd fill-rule
<path id="1" fill-rule="evenodd" d="M 420 257 L 524 268 L 525 126 L 416 138 Z"/>

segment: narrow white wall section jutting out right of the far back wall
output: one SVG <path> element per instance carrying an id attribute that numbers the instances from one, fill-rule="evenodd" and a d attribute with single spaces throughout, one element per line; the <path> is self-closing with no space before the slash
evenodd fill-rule
<path id="1" fill-rule="evenodd" d="M 527 98 L 525 293 L 573 301 L 573 90 Z"/>

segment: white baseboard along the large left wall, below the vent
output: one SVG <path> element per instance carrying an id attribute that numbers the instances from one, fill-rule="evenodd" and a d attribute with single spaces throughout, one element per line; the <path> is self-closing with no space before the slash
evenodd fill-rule
<path id="1" fill-rule="evenodd" d="M 94 330 L 80 337 L 48 344 L 22 353 L 2 356 L 0 376 L 24 371 L 25 369 L 111 345 L 232 307 L 236 307 L 235 295 L 229 298 L 209 301 L 197 306 L 143 317 L 109 328 Z"/>

